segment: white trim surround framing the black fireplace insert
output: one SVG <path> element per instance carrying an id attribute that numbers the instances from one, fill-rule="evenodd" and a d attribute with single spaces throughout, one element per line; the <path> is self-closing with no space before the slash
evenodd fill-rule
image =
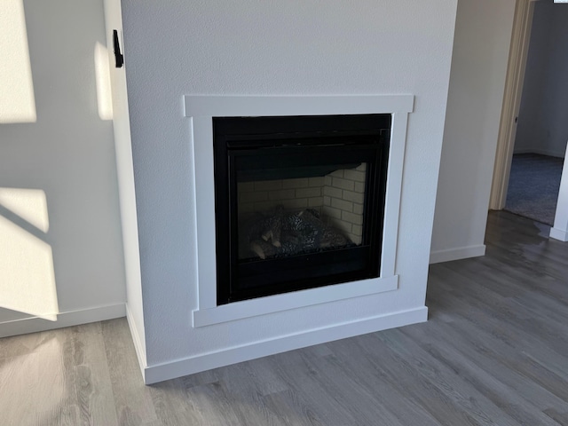
<path id="1" fill-rule="evenodd" d="M 194 158 L 197 229 L 198 303 L 193 327 L 326 304 L 398 288 L 396 254 L 398 216 L 406 145 L 406 123 L 413 95 L 354 96 L 185 96 Z M 217 306 L 213 117 L 392 114 L 390 155 L 383 223 L 380 277 Z"/>

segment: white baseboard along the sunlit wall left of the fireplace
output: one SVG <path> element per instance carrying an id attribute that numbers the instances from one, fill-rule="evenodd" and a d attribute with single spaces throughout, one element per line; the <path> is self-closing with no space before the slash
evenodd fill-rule
<path id="1" fill-rule="evenodd" d="M 57 321 L 48 321 L 37 317 L 15 319 L 0 324 L 0 337 L 27 335 L 55 328 L 72 327 L 89 322 L 122 318 L 126 315 L 125 304 L 109 304 L 79 311 L 60 312 Z"/>

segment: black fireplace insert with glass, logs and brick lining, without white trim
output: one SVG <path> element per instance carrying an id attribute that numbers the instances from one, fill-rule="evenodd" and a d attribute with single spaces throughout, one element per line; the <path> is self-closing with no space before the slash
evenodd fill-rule
<path id="1" fill-rule="evenodd" d="M 390 122 L 212 119 L 217 305 L 379 277 Z"/>

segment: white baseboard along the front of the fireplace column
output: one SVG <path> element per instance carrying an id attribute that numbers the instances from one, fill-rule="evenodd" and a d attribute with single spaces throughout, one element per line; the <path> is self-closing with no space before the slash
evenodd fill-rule
<path id="1" fill-rule="evenodd" d="M 358 319 L 349 323 L 335 324 L 315 330 L 306 330 L 295 335 L 284 335 L 270 340 L 253 342 L 221 351 L 209 352 L 190 358 L 177 359 L 164 364 L 146 367 L 145 383 L 152 384 L 193 375 L 217 367 L 225 367 L 250 359 L 256 359 L 313 344 L 332 342 L 354 335 L 365 335 L 388 328 L 402 327 L 424 322 L 428 319 L 428 308 L 394 312 L 373 318 Z"/>

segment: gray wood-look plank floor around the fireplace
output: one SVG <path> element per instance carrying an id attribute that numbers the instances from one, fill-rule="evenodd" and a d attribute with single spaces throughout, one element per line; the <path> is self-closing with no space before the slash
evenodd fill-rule
<path id="1" fill-rule="evenodd" d="M 568 425 L 568 244 L 492 213 L 427 323 L 145 386 L 124 319 L 0 340 L 0 424 Z"/>

